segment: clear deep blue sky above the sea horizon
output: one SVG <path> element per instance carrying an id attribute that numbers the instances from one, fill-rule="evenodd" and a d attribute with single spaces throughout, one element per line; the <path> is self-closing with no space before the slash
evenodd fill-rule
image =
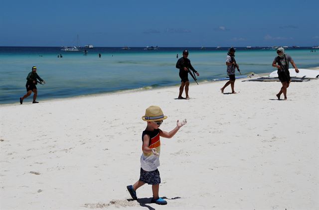
<path id="1" fill-rule="evenodd" d="M 318 0 L 3 0 L 0 46 L 319 45 Z"/>

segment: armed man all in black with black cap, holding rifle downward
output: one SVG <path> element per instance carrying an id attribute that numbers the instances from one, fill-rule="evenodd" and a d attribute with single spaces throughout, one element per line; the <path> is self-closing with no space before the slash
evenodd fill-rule
<path id="1" fill-rule="evenodd" d="M 189 99 L 189 96 L 188 96 L 188 86 L 189 86 L 188 72 L 190 72 L 189 69 L 191 69 L 194 73 L 196 73 L 197 76 L 199 76 L 199 73 L 192 67 L 192 65 L 190 64 L 190 60 L 187 57 L 188 57 L 188 51 L 184 50 L 183 57 L 178 59 L 176 63 L 176 68 L 179 69 L 179 77 L 181 79 L 178 99 Z M 185 87 L 186 98 L 183 98 L 181 96 L 183 94 L 184 87 Z"/>

